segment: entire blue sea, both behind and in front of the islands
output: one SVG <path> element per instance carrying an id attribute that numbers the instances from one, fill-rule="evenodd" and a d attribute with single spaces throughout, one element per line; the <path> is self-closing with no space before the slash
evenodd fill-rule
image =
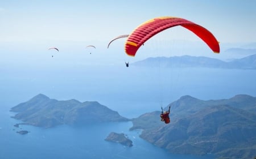
<path id="1" fill-rule="evenodd" d="M 1 70 L 0 158 L 197 158 L 211 159 L 212 154 L 195 156 L 172 154 L 141 139 L 141 130 L 130 131 L 131 122 L 68 125 L 53 128 L 14 124 L 13 106 L 26 102 L 39 93 L 56 100 L 72 98 L 98 101 L 126 118 L 137 118 L 160 110 L 189 95 L 200 100 L 231 98 L 236 94 L 256 96 L 255 70 L 213 68 L 22 68 Z M 28 134 L 17 131 L 27 130 Z M 110 132 L 124 133 L 133 147 L 104 139 Z"/>

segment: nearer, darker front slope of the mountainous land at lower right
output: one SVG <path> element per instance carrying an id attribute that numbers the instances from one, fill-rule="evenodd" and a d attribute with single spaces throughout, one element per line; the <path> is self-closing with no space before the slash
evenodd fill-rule
<path id="1" fill-rule="evenodd" d="M 178 119 L 170 126 L 145 130 L 141 137 L 172 153 L 207 154 L 223 156 L 235 149 L 251 149 L 256 143 L 256 116 L 245 110 L 219 105 L 210 106 Z M 226 157 L 226 156 L 223 156 Z M 229 156 L 230 157 L 230 156 Z"/>

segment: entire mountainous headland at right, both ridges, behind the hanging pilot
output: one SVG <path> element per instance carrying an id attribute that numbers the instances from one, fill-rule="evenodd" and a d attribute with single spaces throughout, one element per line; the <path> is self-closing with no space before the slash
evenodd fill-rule
<path id="1" fill-rule="evenodd" d="M 143 129 L 143 139 L 171 153 L 255 157 L 255 97 L 203 101 L 183 96 L 170 105 L 170 124 L 160 122 L 160 111 L 154 111 L 133 119 L 131 130 Z"/>

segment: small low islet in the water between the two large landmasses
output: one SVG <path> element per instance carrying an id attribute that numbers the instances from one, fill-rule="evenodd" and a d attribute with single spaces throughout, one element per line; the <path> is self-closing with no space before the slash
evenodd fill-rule
<path id="1" fill-rule="evenodd" d="M 127 147 L 132 147 L 133 146 L 133 141 L 128 139 L 125 134 L 121 133 L 115 133 L 115 132 L 110 132 L 109 136 L 106 137 L 105 141 L 110 141 L 114 143 L 120 143 L 122 145 L 125 145 Z"/>

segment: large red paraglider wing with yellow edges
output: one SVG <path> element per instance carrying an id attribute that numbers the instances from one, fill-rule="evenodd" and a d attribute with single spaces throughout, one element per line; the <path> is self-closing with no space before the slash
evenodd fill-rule
<path id="1" fill-rule="evenodd" d="M 189 31 L 195 33 L 195 35 L 200 37 L 214 53 L 220 53 L 218 41 L 206 28 L 186 19 L 164 16 L 148 20 L 147 22 L 139 25 L 139 27 L 137 27 L 127 38 L 125 44 L 126 54 L 134 57 L 139 47 L 141 47 L 141 45 L 143 45 L 149 38 L 164 31 L 165 29 L 175 27 L 177 25 L 187 28 Z"/>

